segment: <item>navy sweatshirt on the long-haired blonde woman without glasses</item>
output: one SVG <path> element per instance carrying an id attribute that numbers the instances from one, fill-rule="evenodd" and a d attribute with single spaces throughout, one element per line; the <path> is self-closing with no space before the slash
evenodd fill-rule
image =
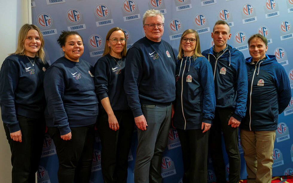
<path id="1" fill-rule="evenodd" d="M 1 66 L 1 116 L 10 133 L 20 130 L 16 114 L 33 119 L 44 117 L 43 77 L 49 64 L 41 63 L 38 57 L 35 63 L 34 60 L 25 55 L 12 54 Z"/>

